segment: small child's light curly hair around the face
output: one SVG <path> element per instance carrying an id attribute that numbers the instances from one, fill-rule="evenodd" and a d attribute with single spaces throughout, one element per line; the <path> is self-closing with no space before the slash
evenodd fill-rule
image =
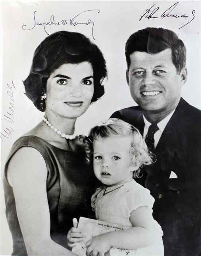
<path id="1" fill-rule="evenodd" d="M 87 162 L 92 163 L 94 141 L 112 136 L 130 136 L 132 138 L 130 141 L 130 156 L 134 167 L 133 178 L 140 178 L 141 167 L 153 163 L 153 155 L 149 152 L 139 130 L 118 118 L 110 118 L 106 123 L 91 129 L 88 138 L 84 139 Z"/>

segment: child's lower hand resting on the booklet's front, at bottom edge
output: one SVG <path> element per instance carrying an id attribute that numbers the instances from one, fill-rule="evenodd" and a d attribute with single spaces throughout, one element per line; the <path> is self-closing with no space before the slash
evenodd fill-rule
<path id="1" fill-rule="evenodd" d="M 108 243 L 107 233 L 96 235 L 91 240 L 86 242 L 87 256 L 104 256 L 108 252 L 111 246 Z"/>

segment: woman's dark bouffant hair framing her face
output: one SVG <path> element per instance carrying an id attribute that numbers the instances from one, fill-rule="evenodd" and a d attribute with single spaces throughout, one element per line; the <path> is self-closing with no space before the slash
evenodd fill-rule
<path id="1" fill-rule="evenodd" d="M 94 95 L 91 102 L 103 96 L 103 78 L 107 77 L 106 62 L 100 49 L 80 33 L 58 31 L 46 37 L 34 52 L 29 76 L 23 81 L 27 97 L 35 107 L 45 111 L 41 96 L 46 92 L 50 74 L 65 63 L 87 61 L 94 72 Z"/>

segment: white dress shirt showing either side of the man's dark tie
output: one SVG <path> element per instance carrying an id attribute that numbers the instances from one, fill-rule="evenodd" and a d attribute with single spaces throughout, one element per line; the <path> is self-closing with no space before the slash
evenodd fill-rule
<path id="1" fill-rule="evenodd" d="M 175 110 L 174 110 L 175 111 Z M 155 132 L 153 138 L 154 138 L 154 148 L 156 148 L 159 140 L 160 140 L 160 137 L 167 125 L 167 123 L 169 122 L 171 116 L 174 114 L 174 111 L 172 111 L 168 116 L 166 116 L 163 120 L 161 120 L 159 123 L 157 123 L 158 127 L 159 127 L 159 130 Z M 147 133 L 148 133 L 148 129 L 149 129 L 149 126 L 151 125 L 151 123 L 149 123 L 147 121 L 147 119 L 144 117 L 143 115 L 143 119 L 144 119 L 144 132 L 143 132 L 143 137 L 145 139 Z"/>

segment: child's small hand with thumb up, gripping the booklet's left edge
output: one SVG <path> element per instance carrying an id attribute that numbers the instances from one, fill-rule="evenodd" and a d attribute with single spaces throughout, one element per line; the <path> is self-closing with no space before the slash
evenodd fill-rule
<path id="1" fill-rule="evenodd" d="M 72 248 L 76 245 L 75 243 L 81 242 L 83 237 L 82 231 L 77 228 L 77 219 L 73 218 L 73 227 L 67 234 L 67 245 Z"/>

